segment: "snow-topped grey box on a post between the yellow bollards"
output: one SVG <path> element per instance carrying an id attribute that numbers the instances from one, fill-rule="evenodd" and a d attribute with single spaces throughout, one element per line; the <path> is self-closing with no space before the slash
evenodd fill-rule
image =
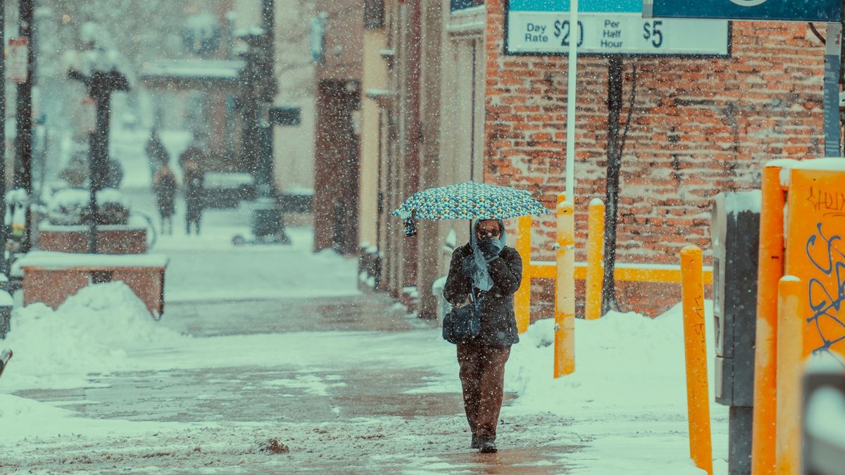
<path id="1" fill-rule="evenodd" d="M 728 473 L 750 473 L 757 318 L 760 190 L 713 200 L 716 401 L 729 406 Z"/>

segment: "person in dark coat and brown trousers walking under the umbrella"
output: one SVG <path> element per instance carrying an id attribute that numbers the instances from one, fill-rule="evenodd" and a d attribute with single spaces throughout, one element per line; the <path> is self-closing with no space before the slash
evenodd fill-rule
<path id="1" fill-rule="evenodd" d="M 481 309 L 477 336 L 458 342 L 457 358 L 466 420 L 473 449 L 492 453 L 496 426 L 504 397 L 504 363 L 510 346 L 519 342 L 514 313 L 514 293 L 522 282 L 522 258 L 504 245 L 502 220 L 481 220 L 473 227 L 470 242 L 452 253 L 444 298 L 452 305 L 471 301 L 472 292 Z"/>

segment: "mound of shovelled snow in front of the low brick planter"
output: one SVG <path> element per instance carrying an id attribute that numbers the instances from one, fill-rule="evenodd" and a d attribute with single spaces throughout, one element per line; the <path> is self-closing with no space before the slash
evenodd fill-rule
<path id="1" fill-rule="evenodd" d="M 14 350 L 14 371 L 3 382 L 15 386 L 20 378 L 123 369 L 130 365 L 126 350 L 180 338 L 157 325 L 125 283 L 90 285 L 55 311 L 33 303 L 14 312 L 4 343 Z"/>

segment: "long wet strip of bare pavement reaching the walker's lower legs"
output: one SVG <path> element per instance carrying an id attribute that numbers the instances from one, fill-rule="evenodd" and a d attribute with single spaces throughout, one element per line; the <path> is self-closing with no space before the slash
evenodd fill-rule
<path id="1" fill-rule="evenodd" d="M 51 401 L 88 418 L 130 421 L 277 423 L 307 418 L 324 423 L 355 417 L 455 414 L 461 407 L 460 394 L 406 394 L 422 386 L 412 381 L 433 375 L 417 369 L 403 371 L 401 378 L 363 369 L 313 373 L 285 367 L 173 369 L 92 375 L 86 388 L 15 394 Z M 314 381 L 324 382 L 324 391 L 315 394 Z"/>

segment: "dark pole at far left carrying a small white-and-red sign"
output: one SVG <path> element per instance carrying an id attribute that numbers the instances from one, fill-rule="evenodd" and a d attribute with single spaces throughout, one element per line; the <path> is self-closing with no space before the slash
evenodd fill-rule
<path id="1" fill-rule="evenodd" d="M 26 81 L 18 85 L 15 124 L 14 188 L 24 188 L 32 194 L 32 83 L 35 76 L 35 41 L 32 37 L 33 0 L 20 0 L 19 35 L 29 41 L 26 52 Z M 26 227 L 20 250 L 30 250 L 30 211 L 26 210 Z"/>

